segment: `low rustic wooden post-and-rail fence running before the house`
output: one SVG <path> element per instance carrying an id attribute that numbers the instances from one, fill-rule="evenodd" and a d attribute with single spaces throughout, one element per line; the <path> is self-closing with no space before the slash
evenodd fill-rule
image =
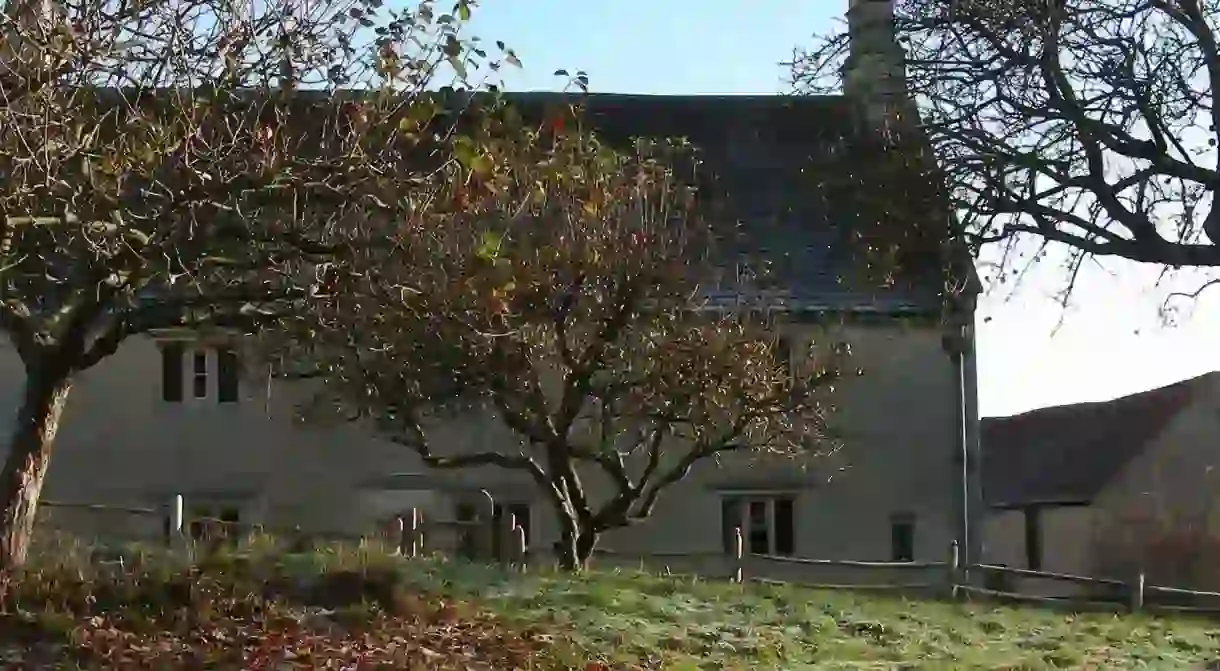
<path id="1" fill-rule="evenodd" d="M 45 501 L 50 509 L 78 509 L 98 512 L 150 516 L 163 520 L 163 540 L 168 544 L 185 538 L 188 520 L 183 515 L 183 498 L 177 495 L 165 509 L 107 506 L 100 504 L 70 504 Z M 554 556 L 527 547 L 523 526 L 505 511 L 500 517 L 484 515 L 476 520 L 426 521 L 422 511 L 395 517 L 389 528 L 372 536 L 305 537 L 299 529 L 277 533 L 257 525 L 216 518 L 192 518 L 203 523 L 203 540 L 223 540 L 239 534 L 264 531 L 279 537 L 303 539 L 368 540 L 387 543 L 390 551 L 404 558 L 426 554 L 462 554 L 468 559 L 494 561 L 525 570 L 529 565 L 550 564 Z M 744 551 L 741 527 L 733 529 L 732 548 L 725 553 L 649 553 L 625 554 L 598 550 L 594 564 L 608 566 L 640 565 L 662 567 L 670 572 L 708 577 L 726 577 L 733 582 L 764 584 L 798 584 L 815 589 L 861 589 L 893 593 L 924 593 L 948 599 L 983 598 L 1006 603 L 1027 603 L 1058 606 L 1072 611 L 1128 610 L 1191 612 L 1220 615 L 1220 592 L 1183 589 L 1149 584 L 1141 571 L 1130 580 L 1100 578 L 1050 571 L 1015 569 L 993 564 L 964 565 L 956 542 L 946 553 L 944 561 L 853 561 L 795 556 L 749 554 Z M 102 559 L 105 560 L 105 559 Z M 122 561 L 120 558 L 118 562 Z M 810 581 L 811 573 L 831 572 L 852 576 L 836 582 Z M 861 580 L 863 578 L 863 580 Z M 871 580 L 867 580 L 871 578 Z M 881 578 L 881 580 L 877 580 Z M 1019 589 L 1014 582 L 1065 583 L 1078 586 L 1085 594 L 1036 594 Z M 981 584 L 980 584 L 981 583 Z"/>

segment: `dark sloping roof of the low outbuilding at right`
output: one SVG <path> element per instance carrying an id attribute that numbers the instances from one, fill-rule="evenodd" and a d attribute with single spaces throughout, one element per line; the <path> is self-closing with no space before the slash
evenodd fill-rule
<path id="1" fill-rule="evenodd" d="M 983 500 L 994 508 L 1091 503 L 1218 378 L 983 418 Z"/>

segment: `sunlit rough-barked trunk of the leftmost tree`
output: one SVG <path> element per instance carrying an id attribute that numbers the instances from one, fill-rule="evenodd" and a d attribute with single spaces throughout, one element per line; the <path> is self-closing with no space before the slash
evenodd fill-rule
<path id="1" fill-rule="evenodd" d="M 0 573 L 26 561 L 38 495 L 71 388 L 72 381 L 66 373 L 27 367 L 26 392 L 9 443 L 9 456 L 0 471 Z"/>

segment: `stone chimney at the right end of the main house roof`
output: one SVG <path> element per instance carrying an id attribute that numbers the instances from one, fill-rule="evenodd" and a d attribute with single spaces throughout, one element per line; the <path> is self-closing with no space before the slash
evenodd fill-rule
<path id="1" fill-rule="evenodd" d="M 894 30 L 894 2 L 848 0 L 847 23 L 843 94 L 863 106 L 871 123 L 892 123 L 909 102 L 906 54 Z"/>

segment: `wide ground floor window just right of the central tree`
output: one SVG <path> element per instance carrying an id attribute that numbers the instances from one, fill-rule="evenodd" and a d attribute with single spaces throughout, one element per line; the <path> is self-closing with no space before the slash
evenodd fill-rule
<path id="1" fill-rule="evenodd" d="M 792 555 L 797 549 L 795 497 L 787 494 L 726 495 L 720 516 L 725 551 L 733 551 L 733 534 L 742 529 L 748 554 Z"/>

